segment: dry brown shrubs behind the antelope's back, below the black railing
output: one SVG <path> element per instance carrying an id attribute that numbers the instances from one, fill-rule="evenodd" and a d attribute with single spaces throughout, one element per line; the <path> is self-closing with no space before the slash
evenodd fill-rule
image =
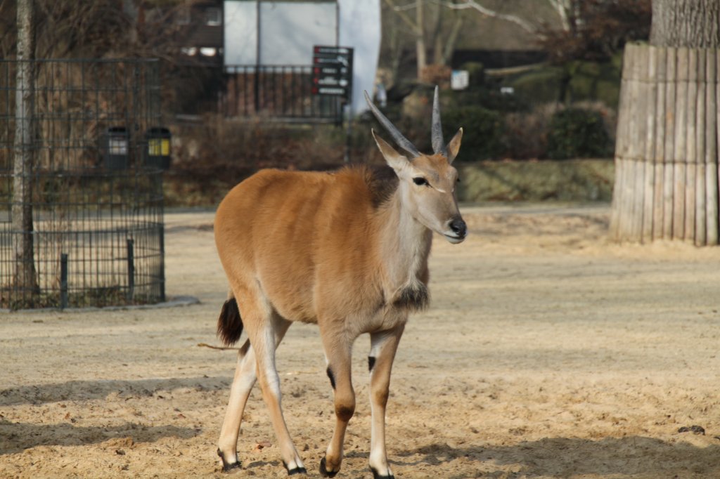
<path id="1" fill-rule="evenodd" d="M 259 168 L 328 169 L 343 164 L 344 132 L 331 125 L 279 125 L 208 115 L 176 125 L 167 206 L 217 204 Z M 370 142 L 366 142 L 372 145 Z"/>

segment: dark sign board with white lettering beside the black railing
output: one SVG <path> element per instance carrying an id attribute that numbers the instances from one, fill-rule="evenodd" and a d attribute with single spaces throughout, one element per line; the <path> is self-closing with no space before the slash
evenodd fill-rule
<path id="1" fill-rule="evenodd" d="M 342 96 L 350 100 L 353 91 L 353 49 L 312 47 L 312 93 Z"/>

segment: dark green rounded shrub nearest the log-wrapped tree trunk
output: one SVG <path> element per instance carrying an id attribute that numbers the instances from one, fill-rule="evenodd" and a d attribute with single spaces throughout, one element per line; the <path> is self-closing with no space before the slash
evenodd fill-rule
<path id="1" fill-rule="evenodd" d="M 611 155 L 611 139 L 598 111 L 568 108 L 550 121 L 547 155 L 556 160 Z"/>

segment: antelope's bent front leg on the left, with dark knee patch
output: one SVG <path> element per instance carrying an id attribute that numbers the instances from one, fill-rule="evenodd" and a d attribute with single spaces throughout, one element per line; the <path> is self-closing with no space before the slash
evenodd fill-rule
<path id="1" fill-rule="evenodd" d="M 331 337 L 328 337 L 331 336 Z M 327 338 L 327 339 L 326 339 Z M 355 391 L 351 379 L 351 342 L 338 341 L 338 335 L 323 332 L 325 357 L 328 360 L 328 378 L 335 393 L 335 432 L 330 439 L 325 457 L 320 460 L 320 474 L 334 477 L 343 461 L 343 442 L 348 421 L 355 413 Z"/>

